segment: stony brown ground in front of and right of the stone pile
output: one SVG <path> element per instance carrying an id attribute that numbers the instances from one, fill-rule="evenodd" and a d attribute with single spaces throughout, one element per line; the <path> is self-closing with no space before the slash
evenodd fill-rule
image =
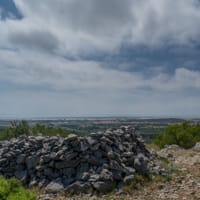
<path id="1" fill-rule="evenodd" d="M 155 177 L 137 189 L 129 187 L 103 196 L 66 194 L 39 194 L 40 200 L 200 200 L 200 151 L 184 150 L 176 145 L 157 151 L 163 167 L 170 174 Z"/>

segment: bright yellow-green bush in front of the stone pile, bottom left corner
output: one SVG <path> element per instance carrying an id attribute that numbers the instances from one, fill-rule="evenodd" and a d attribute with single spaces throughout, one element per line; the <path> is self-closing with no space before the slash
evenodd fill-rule
<path id="1" fill-rule="evenodd" d="M 1 200 L 36 200 L 36 195 L 30 190 L 23 188 L 17 179 L 4 179 L 0 177 Z"/>

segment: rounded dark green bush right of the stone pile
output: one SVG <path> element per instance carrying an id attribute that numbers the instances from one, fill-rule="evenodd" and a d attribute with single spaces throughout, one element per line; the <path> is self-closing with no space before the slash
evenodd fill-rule
<path id="1" fill-rule="evenodd" d="M 163 133 L 156 136 L 154 143 L 160 148 L 165 145 L 177 144 L 183 148 L 191 148 L 200 141 L 200 125 L 190 125 L 185 121 L 181 124 L 170 125 Z"/>

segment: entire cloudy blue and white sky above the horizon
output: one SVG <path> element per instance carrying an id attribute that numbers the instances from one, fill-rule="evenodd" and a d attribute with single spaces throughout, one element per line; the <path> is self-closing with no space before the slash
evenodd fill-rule
<path id="1" fill-rule="evenodd" d="M 199 0 L 0 0 L 0 118 L 200 117 Z"/>

